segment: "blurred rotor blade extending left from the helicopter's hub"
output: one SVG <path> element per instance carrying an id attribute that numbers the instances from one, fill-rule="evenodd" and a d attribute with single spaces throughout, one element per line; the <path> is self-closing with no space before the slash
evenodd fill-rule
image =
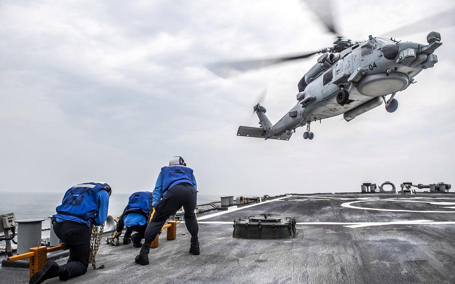
<path id="1" fill-rule="evenodd" d="M 265 66 L 307 58 L 313 54 L 318 53 L 319 51 L 313 51 L 309 53 L 304 53 L 296 56 L 286 56 L 280 58 L 271 58 L 271 59 L 256 59 L 256 60 L 243 60 L 243 61 L 233 61 L 233 62 L 215 62 L 206 64 L 205 67 L 210 70 L 215 75 L 221 78 L 228 78 L 238 74 L 239 72 L 246 72 Z"/>

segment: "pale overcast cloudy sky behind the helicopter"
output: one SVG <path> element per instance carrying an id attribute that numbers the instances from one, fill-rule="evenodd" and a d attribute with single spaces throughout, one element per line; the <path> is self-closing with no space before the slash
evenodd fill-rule
<path id="1" fill-rule="evenodd" d="M 450 0 L 334 0 L 354 40 L 453 8 Z M 299 0 L 1 1 L 0 191 L 57 192 L 106 181 L 152 190 L 182 156 L 199 194 L 359 191 L 362 182 L 455 183 L 453 26 L 424 23 L 397 39 L 441 33 L 439 62 L 383 105 L 297 128 L 289 141 L 237 137 L 257 126 L 255 99 L 274 123 L 295 103 L 317 56 L 217 77 L 204 64 L 318 50 L 333 37 Z M 392 36 L 391 34 L 390 36 Z"/>

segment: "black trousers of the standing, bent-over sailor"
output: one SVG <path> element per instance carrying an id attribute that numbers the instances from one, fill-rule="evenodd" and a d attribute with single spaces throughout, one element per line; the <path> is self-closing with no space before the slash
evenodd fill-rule
<path id="1" fill-rule="evenodd" d="M 145 230 L 145 243 L 150 243 L 161 230 L 167 218 L 174 214 L 181 206 L 184 209 L 185 225 L 191 236 L 197 236 L 196 208 L 197 191 L 189 183 L 179 183 L 167 190 L 166 195 L 156 204 L 155 214 Z"/>

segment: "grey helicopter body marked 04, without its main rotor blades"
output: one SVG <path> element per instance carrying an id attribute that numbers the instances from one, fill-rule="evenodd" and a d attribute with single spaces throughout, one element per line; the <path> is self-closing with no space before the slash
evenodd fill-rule
<path id="1" fill-rule="evenodd" d="M 396 92 L 406 89 L 415 75 L 437 62 L 433 51 L 442 44 L 440 35 L 430 32 L 427 41 L 425 45 L 369 36 L 337 54 L 322 54 L 298 83 L 298 103 L 277 123 L 271 125 L 263 106 L 255 107 L 264 128 L 262 137 L 288 140 L 295 128 L 309 127 L 311 121 L 340 114 L 349 121 L 383 101 L 390 108 Z M 386 101 L 388 94 L 392 96 Z M 387 111 L 396 109 L 397 101 L 393 103 L 394 109 Z"/>

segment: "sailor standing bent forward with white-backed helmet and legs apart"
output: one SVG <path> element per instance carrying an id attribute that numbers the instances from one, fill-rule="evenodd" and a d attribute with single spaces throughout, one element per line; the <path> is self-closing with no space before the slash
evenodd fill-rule
<path id="1" fill-rule="evenodd" d="M 134 261 L 141 265 L 148 264 L 150 243 L 158 235 L 167 218 L 181 206 L 184 209 L 186 228 L 191 234 L 189 252 L 199 254 L 199 241 L 197 239 L 199 226 L 194 214 L 196 202 L 196 179 L 193 170 L 186 166 L 181 157 L 173 157 L 169 166 L 161 168 L 156 180 L 152 202 L 155 212 L 145 230 L 144 244 L 142 244 L 139 255 L 135 257 Z"/>

